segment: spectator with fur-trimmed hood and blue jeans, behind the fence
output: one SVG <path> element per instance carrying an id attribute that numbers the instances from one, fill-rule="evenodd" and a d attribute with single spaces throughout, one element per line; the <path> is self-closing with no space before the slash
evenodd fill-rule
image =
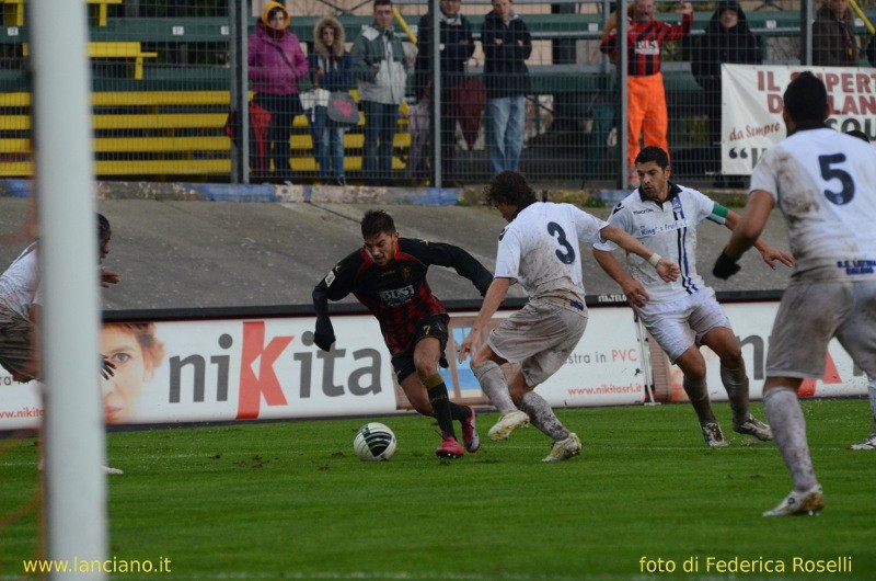
<path id="1" fill-rule="evenodd" d="M 314 88 L 328 92 L 353 88 L 353 57 L 344 50 L 344 25 L 333 16 L 320 19 L 313 27 L 313 54 L 310 55 L 310 80 Z M 313 149 L 320 164 L 320 180 L 325 184 L 346 185 L 344 176 L 343 127 L 330 127 L 327 103 L 316 103 L 310 112 Z"/>

